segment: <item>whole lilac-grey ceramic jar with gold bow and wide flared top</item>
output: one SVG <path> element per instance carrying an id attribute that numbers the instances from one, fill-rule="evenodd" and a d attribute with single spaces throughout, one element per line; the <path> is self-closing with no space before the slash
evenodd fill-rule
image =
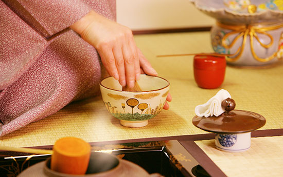
<path id="1" fill-rule="evenodd" d="M 231 54 L 235 66 L 264 66 L 283 57 L 281 0 L 191 0 L 203 13 L 217 19 L 211 44 L 217 53 Z"/>

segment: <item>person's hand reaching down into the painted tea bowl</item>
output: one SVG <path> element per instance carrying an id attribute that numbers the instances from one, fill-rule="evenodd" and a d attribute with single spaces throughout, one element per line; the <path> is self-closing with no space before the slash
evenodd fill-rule
<path id="1" fill-rule="evenodd" d="M 132 31 L 91 11 L 71 25 L 74 31 L 98 51 L 108 73 L 122 86 L 134 87 L 140 68 L 157 75 L 146 58 L 140 60 Z"/>

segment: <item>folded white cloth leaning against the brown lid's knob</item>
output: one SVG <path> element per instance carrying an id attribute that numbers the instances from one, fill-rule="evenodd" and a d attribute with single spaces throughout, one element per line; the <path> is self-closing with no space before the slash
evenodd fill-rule
<path id="1" fill-rule="evenodd" d="M 221 89 L 216 93 L 215 96 L 211 97 L 208 102 L 203 105 L 196 106 L 194 112 L 196 112 L 196 114 L 200 117 L 208 117 L 213 115 L 219 116 L 225 112 L 225 109 L 222 108 L 221 104 L 222 101 L 227 98 L 231 99 L 230 93 L 227 90 Z"/>

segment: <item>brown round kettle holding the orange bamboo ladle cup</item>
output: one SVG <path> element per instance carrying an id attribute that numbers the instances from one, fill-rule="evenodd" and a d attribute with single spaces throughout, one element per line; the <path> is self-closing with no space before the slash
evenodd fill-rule
<path id="1" fill-rule="evenodd" d="M 50 158 L 44 162 L 37 163 L 24 170 L 19 177 L 157 177 L 160 174 L 149 174 L 140 166 L 126 160 L 117 159 L 115 156 L 102 153 L 92 152 L 89 167 L 86 174 L 74 175 L 60 173 L 50 169 Z"/>

